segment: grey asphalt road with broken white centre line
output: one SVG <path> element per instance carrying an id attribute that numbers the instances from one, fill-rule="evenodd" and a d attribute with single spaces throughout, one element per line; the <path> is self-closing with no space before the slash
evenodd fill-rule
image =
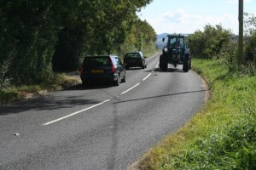
<path id="1" fill-rule="evenodd" d="M 194 71 L 127 71 L 119 87 L 80 85 L 0 106 L 0 169 L 125 169 L 201 109 Z"/>

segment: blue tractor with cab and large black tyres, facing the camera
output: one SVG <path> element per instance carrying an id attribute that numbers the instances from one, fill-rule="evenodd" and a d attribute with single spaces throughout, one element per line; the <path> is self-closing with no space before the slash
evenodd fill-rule
<path id="1" fill-rule="evenodd" d="M 166 42 L 166 38 L 162 39 Z M 188 72 L 191 69 L 191 57 L 187 43 L 187 37 L 183 35 L 167 35 L 166 46 L 160 54 L 160 69 L 167 71 L 168 64 L 183 65 L 183 71 Z"/>

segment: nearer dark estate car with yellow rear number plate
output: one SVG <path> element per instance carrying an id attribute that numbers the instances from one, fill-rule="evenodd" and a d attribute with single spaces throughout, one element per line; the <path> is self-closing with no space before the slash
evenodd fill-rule
<path id="1" fill-rule="evenodd" d="M 85 56 L 79 71 L 84 87 L 89 82 L 113 82 L 119 86 L 119 82 L 126 81 L 125 65 L 115 54 Z"/>

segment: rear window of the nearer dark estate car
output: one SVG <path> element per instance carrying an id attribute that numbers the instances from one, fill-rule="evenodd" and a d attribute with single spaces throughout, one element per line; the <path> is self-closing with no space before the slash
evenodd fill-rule
<path id="1" fill-rule="evenodd" d="M 111 66 L 109 57 L 88 57 L 84 59 L 84 65 L 87 68 L 98 68 Z"/>

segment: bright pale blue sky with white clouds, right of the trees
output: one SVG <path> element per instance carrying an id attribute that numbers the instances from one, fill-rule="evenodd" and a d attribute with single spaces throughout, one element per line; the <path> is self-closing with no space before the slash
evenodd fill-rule
<path id="1" fill-rule="evenodd" d="M 239 0 L 154 0 L 141 12 L 157 34 L 193 33 L 204 26 L 221 25 L 238 34 Z M 256 16 L 256 0 L 244 0 L 243 11 Z"/>

